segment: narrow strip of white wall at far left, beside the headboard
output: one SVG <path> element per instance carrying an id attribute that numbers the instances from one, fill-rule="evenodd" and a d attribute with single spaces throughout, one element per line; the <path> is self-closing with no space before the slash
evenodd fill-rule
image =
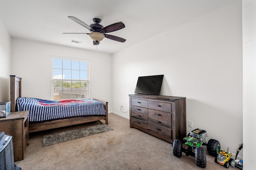
<path id="1" fill-rule="evenodd" d="M 10 101 L 11 37 L 0 18 L 0 102 Z"/>

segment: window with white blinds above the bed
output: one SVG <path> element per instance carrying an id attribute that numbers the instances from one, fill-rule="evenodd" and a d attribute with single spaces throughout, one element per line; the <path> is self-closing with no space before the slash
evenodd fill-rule
<path id="1" fill-rule="evenodd" d="M 90 98 L 89 64 L 52 58 L 52 100 Z"/>

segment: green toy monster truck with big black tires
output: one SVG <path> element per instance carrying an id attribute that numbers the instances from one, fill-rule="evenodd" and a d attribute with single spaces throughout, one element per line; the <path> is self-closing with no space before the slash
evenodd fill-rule
<path id="1" fill-rule="evenodd" d="M 193 156 L 196 160 L 196 165 L 202 168 L 206 168 L 206 152 L 202 145 L 207 146 L 207 152 L 216 157 L 220 153 L 220 142 L 215 139 L 210 139 L 208 144 L 205 140 L 208 137 L 207 132 L 202 129 L 195 129 L 191 131 L 188 136 L 183 138 L 183 141 L 175 139 L 172 144 L 172 153 L 174 156 L 180 158 L 182 152 L 186 156 Z M 184 148 L 182 145 L 184 144 Z"/>

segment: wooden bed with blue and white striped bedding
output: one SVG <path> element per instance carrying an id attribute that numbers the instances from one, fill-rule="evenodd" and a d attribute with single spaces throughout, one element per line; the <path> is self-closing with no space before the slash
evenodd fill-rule
<path id="1" fill-rule="evenodd" d="M 10 75 L 11 112 L 29 111 L 29 132 L 93 121 L 103 121 L 108 124 L 108 102 L 106 101 L 98 99 L 50 101 L 22 97 L 21 85 L 22 78 Z"/>

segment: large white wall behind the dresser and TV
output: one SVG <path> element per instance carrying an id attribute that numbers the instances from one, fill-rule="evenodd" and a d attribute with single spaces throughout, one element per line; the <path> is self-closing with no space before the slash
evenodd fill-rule
<path id="1" fill-rule="evenodd" d="M 171 21 L 167 21 L 171 22 Z M 138 76 L 164 74 L 161 95 L 186 97 L 186 119 L 222 149 L 242 143 L 242 2 L 178 26 L 113 56 L 114 113 L 129 109 Z"/>

